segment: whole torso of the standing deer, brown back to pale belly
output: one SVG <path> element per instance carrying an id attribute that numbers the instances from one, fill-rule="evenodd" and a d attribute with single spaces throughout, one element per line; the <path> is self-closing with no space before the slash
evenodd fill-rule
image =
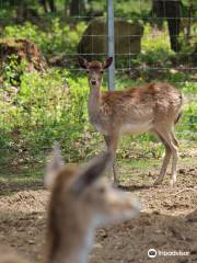
<path id="1" fill-rule="evenodd" d="M 175 122 L 181 106 L 181 92 L 167 83 L 103 92 L 100 118 L 93 125 L 103 133 L 117 127 L 123 133 L 143 133 L 157 122 Z"/>

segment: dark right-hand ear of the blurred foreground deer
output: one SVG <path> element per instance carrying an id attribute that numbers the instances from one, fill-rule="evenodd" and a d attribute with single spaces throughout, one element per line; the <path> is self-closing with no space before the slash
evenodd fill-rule
<path id="1" fill-rule="evenodd" d="M 82 193 L 86 186 L 93 184 L 103 174 L 111 161 L 112 155 L 108 151 L 95 157 L 73 182 L 72 192 L 76 194 Z"/>

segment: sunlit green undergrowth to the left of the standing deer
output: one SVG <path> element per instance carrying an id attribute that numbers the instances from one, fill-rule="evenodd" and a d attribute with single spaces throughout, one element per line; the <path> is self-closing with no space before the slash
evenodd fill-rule
<path id="1" fill-rule="evenodd" d="M 100 139 L 88 122 L 86 78 L 70 77 L 67 70 L 56 69 L 24 72 L 21 87 L 12 89 L 4 81 L 0 91 L 1 149 L 27 149 L 23 161 L 51 148 L 55 140 L 61 142 L 68 161 L 99 151 L 95 144 Z"/>

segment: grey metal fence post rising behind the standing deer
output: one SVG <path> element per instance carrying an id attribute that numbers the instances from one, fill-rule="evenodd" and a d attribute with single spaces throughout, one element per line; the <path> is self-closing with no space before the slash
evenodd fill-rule
<path id="1" fill-rule="evenodd" d="M 115 45 L 114 45 L 114 3 L 107 0 L 107 33 L 108 33 L 108 56 L 113 57 L 113 64 L 108 68 L 108 90 L 115 90 Z"/>

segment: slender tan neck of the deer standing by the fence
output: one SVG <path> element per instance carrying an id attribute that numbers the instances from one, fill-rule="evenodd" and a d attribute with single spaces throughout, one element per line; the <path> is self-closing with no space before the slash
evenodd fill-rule
<path id="1" fill-rule="evenodd" d="M 101 87 L 96 85 L 92 88 L 89 93 L 88 110 L 91 123 L 94 123 L 94 119 L 99 118 L 100 106 L 101 106 Z"/>

